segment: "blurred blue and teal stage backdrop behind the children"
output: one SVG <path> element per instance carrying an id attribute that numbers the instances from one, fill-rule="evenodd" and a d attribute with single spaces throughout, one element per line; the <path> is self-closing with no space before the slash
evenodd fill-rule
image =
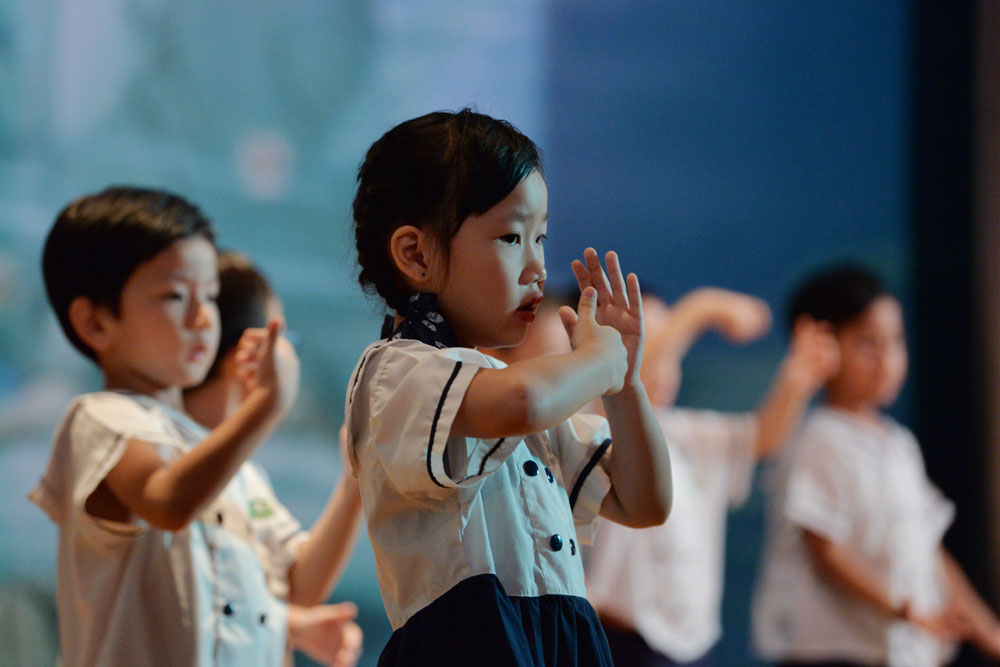
<path id="1" fill-rule="evenodd" d="M 717 285 L 771 304 L 764 340 L 694 348 L 681 404 L 752 409 L 791 286 L 830 260 L 879 270 L 913 355 L 893 413 L 996 605 L 1000 104 L 976 91 L 997 89 L 997 47 L 977 40 L 997 16 L 903 0 L 0 0 L 0 663 L 52 664 L 55 530 L 25 495 L 67 401 L 99 386 L 42 289 L 59 209 L 111 183 L 176 190 L 269 274 L 303 388 L 257 458 L 308 525 L 381 314 L 354 281 L 355 170 L 392 125 L 466 105 L 544 151 L 550 284 L 594 245 L 669 300 Z M 754 664 L 762 508 L 758 491 L 731 518 L 720 665 Z M 334 597 L 361 608 L 374 665 L 389 626 L 365 536 Z"/>

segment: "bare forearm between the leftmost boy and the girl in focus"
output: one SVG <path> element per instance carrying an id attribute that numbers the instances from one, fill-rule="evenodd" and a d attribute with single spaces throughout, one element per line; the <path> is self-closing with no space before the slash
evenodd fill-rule
<path id="1" fill-rule="evenodd" d="M 345 472 L 288 572 L 290 603 L 309 607 L 329 597 L 350 560 L 360 524 L 358 482 Z"/>

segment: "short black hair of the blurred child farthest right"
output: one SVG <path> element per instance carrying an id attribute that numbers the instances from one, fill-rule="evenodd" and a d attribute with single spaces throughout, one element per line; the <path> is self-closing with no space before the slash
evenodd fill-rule
<path id="1" fill-rule="evenodd" d="M 829 322 L 834 329 L 860 317 L 880 296 L 890 294 L 882 281 L 857 264 L 841 264 L 806 279 L 788 303 L 788 327 L 802 315 Z"/>

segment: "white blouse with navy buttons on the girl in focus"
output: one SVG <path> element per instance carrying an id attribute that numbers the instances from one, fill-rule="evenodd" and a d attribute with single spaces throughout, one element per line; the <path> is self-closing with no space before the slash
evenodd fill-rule
<path id="1" fill-rule="evenodd" d="M 586 595 L 579 542 L 610 489 L 607 422 L 578 415 L 523 438 L 451 437 L 475 374 L 504 367 L 400 339 L 370 345 L 352 374 L 349 455 L 393 629 L 481 574 L 510 596 Z"/>

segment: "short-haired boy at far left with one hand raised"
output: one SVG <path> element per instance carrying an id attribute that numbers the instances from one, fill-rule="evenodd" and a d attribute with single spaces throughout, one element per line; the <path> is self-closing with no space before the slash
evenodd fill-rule
<path id="1" fill-rule="evenodd" d="M 262 561 L 287 564 L 290 602 L 315 604 L 325 580 L 322 550 L 300 549 L 313 538 L 243 465 L 297 391 L 280 323 L 244 334 L 252 390 L 208 432 L 181 400 L 219 339 L 214 233 L 197 207 L 130 187 L 82 197 L 42 268 L 63 331 L 105 380 L 69 406 L 30 496 L 59 526 L 63 664 L 281 664 L 285 603 Z"/>

